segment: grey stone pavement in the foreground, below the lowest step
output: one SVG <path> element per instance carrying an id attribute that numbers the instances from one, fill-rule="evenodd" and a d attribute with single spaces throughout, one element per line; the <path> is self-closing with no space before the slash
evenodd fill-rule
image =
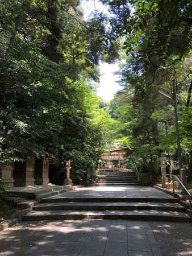
<path id="1" fill-rule="evenodd" d="M 191 224 L 120 220 L 23 222 L 0 234 L 1 256 L 189 256 Z"/>

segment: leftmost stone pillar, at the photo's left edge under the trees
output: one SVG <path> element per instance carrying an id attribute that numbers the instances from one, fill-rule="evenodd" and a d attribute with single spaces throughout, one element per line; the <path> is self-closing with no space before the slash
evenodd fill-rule
<path id="1" fill-rule="evenodd" d="M 14 186 L 14 179 L 13 179 L 13 163 L 4 164 L 1 167 L 0 171 L 1 181 L 5 182 L 9 187 Z"/>

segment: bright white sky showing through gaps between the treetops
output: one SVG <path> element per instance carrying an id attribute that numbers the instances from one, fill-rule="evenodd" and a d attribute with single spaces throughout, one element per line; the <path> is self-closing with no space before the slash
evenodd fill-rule
<path id="1" fill-rule="evenodd" d="M 101 2 L 98 2 L 98 0 L 82 0 L 81 6 L 85 12 L 85 19 L 87 19 L 91 11 L 95 9 L 103 11 L 103 13 L 106 14 L 108 12 L 107 7 L 102 5 Z M 118 80 L 118 77 L 114 75 L 114 72 L 118 71 L 118 64 L 101 63 L 100 70 L 102 76 L 98 85 L 97 95 L 104 100 L 110 101 L 114 97 L 114 94 L 122 89 L 121 86 L 115 82 Z"/>

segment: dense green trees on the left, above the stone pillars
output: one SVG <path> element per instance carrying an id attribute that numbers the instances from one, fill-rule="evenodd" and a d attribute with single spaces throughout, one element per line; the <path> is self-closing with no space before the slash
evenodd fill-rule
<path id="1" fill-rule="evenodd" d="M 105 16 L 85 22 L 77 0 L 2 0 L 0 17 L 1 163 L 55 154 L 83 170 L 105 141 L 90 84 L 104 56 L 118 57 Z"/>

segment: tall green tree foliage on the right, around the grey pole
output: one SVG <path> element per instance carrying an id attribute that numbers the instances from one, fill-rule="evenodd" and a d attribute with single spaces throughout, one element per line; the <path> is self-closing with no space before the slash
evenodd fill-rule
<path id="1" fill-rule="evenodd" d="M 163 90 L 172 96 L 173 79 L 177 80 L 183 154 L 191 150 L 191 3 L 102 2 L 110 5 L 113 38 L 122 36 L 127 54 L 119 72 L 123 89 L 110 102 L 112 117 L 119 122 L 116 134 L 120 141 L 131 139 L 143 169 L 155 170 L 162 152 L 177 157 L 173 101 L 160 94 Z"/>

